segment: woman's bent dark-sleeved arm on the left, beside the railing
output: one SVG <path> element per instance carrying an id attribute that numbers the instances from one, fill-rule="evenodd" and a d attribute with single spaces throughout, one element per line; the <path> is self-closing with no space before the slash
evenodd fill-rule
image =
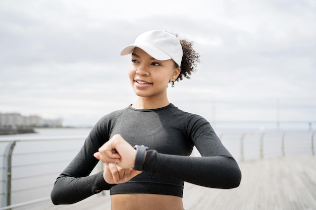
<path id="1" fill-rule="evenodd" d="M 54 204 L 75 203 L 114 186 L 104 181 L 103 172 L 89 176 L 99 161 L 93 154 L 108 139 L 103 127 L 102 121 L 93 127 L 79 153 L 57 178 L 50 194 Z"/>

